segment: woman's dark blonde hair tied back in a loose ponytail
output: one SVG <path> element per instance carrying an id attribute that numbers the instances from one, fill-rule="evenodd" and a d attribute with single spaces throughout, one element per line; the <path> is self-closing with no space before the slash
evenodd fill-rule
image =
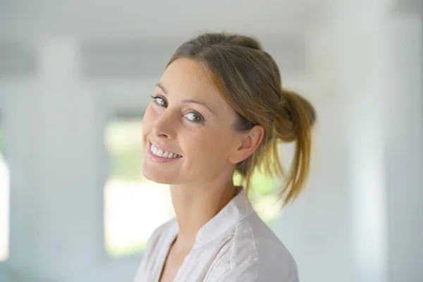
<path id="1" fill-rule="evenodd" d="M 252 171 L 257 166 L 273 177 L 283 177 L 279 192 L 283 204 L 295 200 L 307 183 L 316 120 L 313 106 L 299 94 L 283 89 L 274 59 L 260 43 L 244 35 L 204 33 L 183 43 L 168 65 L 179 58 L 202 63 L 223 99 L 238 114 L 235 130 L 246 132 L 255 125 L 264 137 L 255 152 L 238 163 L 248 194 Z M 292 165 L 285 173 L 278 154 L 280 142 L 295 142 Z"/>

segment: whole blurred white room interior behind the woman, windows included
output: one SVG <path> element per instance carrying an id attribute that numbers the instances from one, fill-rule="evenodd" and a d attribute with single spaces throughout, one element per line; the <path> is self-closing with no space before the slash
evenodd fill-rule
<path id="1" fill-rule="evenodd" d="M 261 39 L 317 109 L 298 201 L 281 211 L 281 180 L 253 179 L 301 281 L 422 282 L 419 0 L 0 0 L 0 281 L 132 281 L 173 216 L 140 173 L 142 115 L 204 31 Z"/>

